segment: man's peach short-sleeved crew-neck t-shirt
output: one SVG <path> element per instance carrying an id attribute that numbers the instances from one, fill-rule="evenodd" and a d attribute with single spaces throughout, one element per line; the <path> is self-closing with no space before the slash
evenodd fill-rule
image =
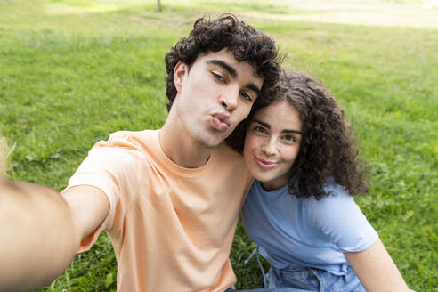
<path id="1" fill-rule="evenodd" d="M 68 188 L 92 185 L 110 199 L 109 214 L 79 252 L 107 231 L 118 291 L 223 291 L 236 282 L 229 255 L 251 180 L 224 144 L 205 166 L 183 168 L 161 150 L 158 130 L 111 134 L 69 180 Z"/>

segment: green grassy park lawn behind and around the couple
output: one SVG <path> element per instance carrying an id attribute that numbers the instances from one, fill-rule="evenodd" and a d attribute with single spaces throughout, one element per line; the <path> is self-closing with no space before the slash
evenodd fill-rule
<path id="1" fill-rule="evenodd" d="M 410 288 L 438 291 L 436 1 L 162 0 L 161 9 L 140 0 L 0 0 L 8 177 L 62 190 L 94 142 L 160 127 L 169 47 L 197 18 L 232 12 L 277 40 L 285 69 L 309 71 L 334 93 L 366 160 L 370 194 L 356 201 Z M 239 223 L 237 288 L 263 285 L 255 259 L 243 264 L 254 247 Z M 115 291 L 116 277 L 103 234 L 41 291 Z"/>

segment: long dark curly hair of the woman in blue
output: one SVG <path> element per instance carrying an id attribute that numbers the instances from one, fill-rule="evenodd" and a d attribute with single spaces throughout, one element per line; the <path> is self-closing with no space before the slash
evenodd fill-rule
<path id="1" fill-rule="evenodd" d="M 304 72 L 283 72 L 268 96 L 255 104 L 227 143 L 242 151 L 243 137 L 254 113 L 280 101 L 288 101 L 298 111 L 303 127 L 300 150 L 289 172 L 289 192 L 296 197 L 321 199 L 329 195 L 323 186 L 330 178 L 344 186 L 351 196 L 368 192 L 344 111 L 320 81 Z"/>

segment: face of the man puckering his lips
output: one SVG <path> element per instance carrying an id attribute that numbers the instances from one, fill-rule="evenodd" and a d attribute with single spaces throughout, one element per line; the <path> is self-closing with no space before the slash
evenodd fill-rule
<path id="1" fill-rule="evenodd" d="M 185 134 L 207 148 L 223 142 L 247 117 L 263 85 L 255 68 L 228 50 L 199 55 L 190 71 L 178 63 L 174 82 L 178 93 L 173 110 Z"/>

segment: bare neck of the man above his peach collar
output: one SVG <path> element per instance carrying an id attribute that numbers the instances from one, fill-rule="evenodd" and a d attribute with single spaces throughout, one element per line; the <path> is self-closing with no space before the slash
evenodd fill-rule
<path id="1" fill-rule="evenodd" d="M 189 134 L 177 126 L 178 123 L 166 120 L 158 134 L 158 141 L 166 156 L 178 166 L 199 168 L 210 158 L 212 149 L 194 141 Z"/>

